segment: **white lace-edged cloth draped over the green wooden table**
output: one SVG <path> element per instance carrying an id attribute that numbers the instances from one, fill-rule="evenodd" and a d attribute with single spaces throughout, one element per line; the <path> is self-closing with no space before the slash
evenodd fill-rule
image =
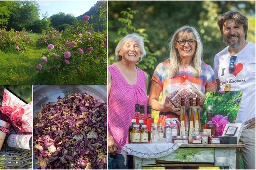
<path id="1" fill-rule="evenodd" d="M 146 143 L 146 144 L 126 144 L 121 154 L 125 158 L 127 153 L 139 158 L 160 158 L 166 156 L 176 149 L 178 149 L 182 143 Z"/>

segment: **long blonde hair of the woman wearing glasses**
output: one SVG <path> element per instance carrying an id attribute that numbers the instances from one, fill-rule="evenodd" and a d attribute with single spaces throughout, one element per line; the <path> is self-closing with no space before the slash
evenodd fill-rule
<path id="1" fill-rule="evenodd" d="M 202 54 L 203 54 L 203 45 L 199 33 L 194 27 L 183 26 L 178 28 L 172 36 L 172 39 L 169 43 L 170 48 L 170 76 L 174 77 L 179 72 L 179 67 L 181 65 L 181 57 L 178 50 L 175 48 L 175 44 L 178 41 L 179 33 L 182 32 L 182 38 L 190 34 L 196 40 L 196 49 L 194 56 L 192 57 L 190 65 L 196 70 L 197 76 L 202 75 Z"/>

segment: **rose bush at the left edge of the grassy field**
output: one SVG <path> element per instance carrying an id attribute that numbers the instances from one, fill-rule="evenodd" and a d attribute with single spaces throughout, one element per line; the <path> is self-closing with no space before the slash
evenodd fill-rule
<path id="1" fill-rule="evenodd" d="M 31 42 L 32 39 L 24 30 L 19 32 L 14 31 L 14 29 L 10 31 L 0 29 L 0 49 L 3 51 L 23 52 L 28 48 Z"/>

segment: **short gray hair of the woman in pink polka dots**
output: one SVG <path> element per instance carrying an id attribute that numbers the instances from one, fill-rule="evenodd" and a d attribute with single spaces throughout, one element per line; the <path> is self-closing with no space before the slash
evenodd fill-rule
<path id="1" fill-rule="evenodd" d="M 118 42 L 117 47 L 115 49 L 115 56 L 116 56 L 116 61 L 121 61 L 122 57 L 118 54 L 121 48 L 124 46 L 126 42 L 129 41 L 137 41 L 139 48 L 140 48 L 140 58 L 138 62 L 142 61 L 142 58 L 146 56 L 146 50 L 144 47 L 144 40 L 138 35 L 138 34 L 128 34 L 126 35 L 120 42 Z"/>

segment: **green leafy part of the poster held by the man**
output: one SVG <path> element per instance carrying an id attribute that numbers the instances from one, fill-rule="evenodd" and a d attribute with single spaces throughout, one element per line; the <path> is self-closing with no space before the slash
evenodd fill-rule
<path id="1" fill-rule="evenodd" d="M 201 125 L 207 123 L 206 110 L 212 112 L 212 117 L 215 115 L 228 116 L 230 123 L 235 123 L 238 110 L 240 107 L 240 101 L 242 100 L 242 91 L 230 91 L 225 94 L 219 92 L 207 92 L 204 108 L 201 114 Z"/>

